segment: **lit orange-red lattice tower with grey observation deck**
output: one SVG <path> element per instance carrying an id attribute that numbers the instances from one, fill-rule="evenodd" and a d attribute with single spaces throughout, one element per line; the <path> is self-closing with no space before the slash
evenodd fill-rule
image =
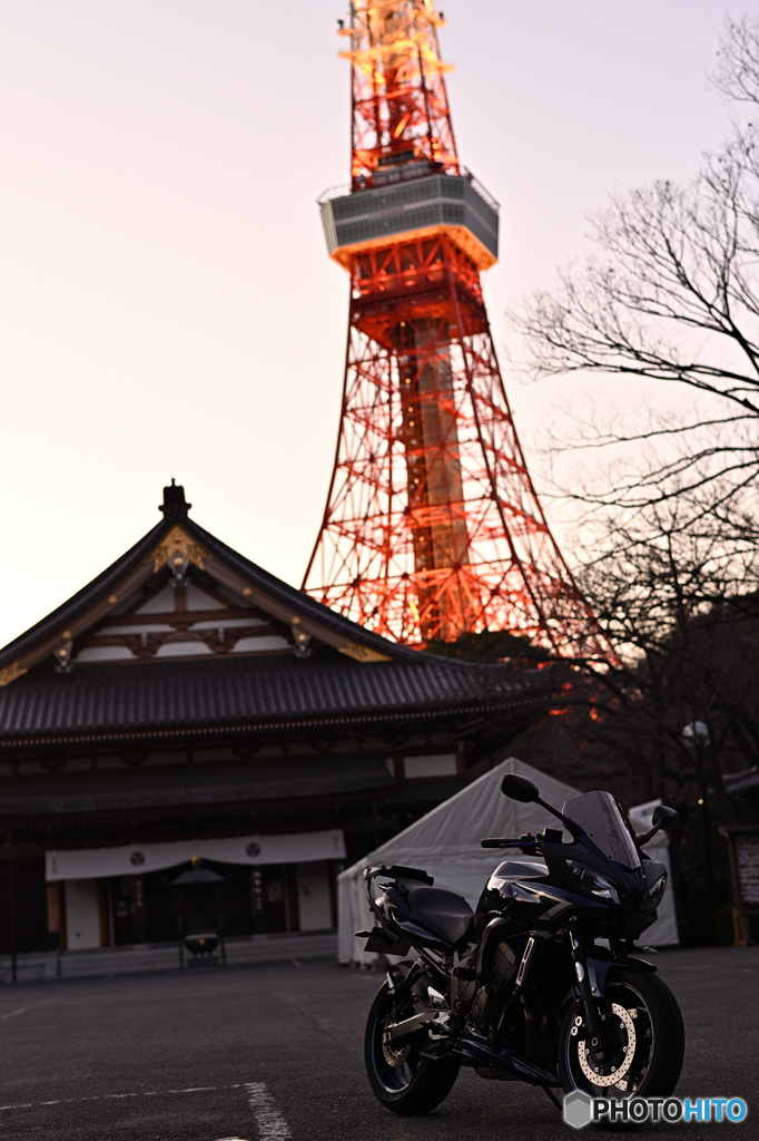
<path id="1" fill-rule="evenodd" d="M 354 0 L 351 186 L 320 200 L 350 274 L 342 418 L 303 589 L 409 645 L 507 630 L 604 656 L 548 529 L 480 274 L 498 204 L 458 161 L 432 0 Z"/>

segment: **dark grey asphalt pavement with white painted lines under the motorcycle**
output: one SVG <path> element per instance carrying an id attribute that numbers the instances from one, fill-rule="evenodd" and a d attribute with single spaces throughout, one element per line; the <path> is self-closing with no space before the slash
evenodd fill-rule
<path id="1" fill-rule="evenodd" d="M 759 1138 L 759 947 L 666 952 L 685 1018 L 682 1097 L 742 1097 L 741 1124 L 642 1127 Z M 574 1134 L 546 1095 L 463 1070 L 427 1117 L 369 1091 L 382 978 L 332 962 L 0 987 L 0 1141 L 542 1141 Z M 598 1135 L 597 1133 L 595 1135 Z"/>

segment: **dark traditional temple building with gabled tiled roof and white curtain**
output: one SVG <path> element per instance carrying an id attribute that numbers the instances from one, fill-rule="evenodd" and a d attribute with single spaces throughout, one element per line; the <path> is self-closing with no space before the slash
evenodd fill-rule
<path id="1" fill-rule="evenodd" d="M 550 702 L 550 667 L 390 642 L 189 507 L 172 482 L 153 529 L 0 652 L 0 952 L 334 929 L 344 863 Z"/>

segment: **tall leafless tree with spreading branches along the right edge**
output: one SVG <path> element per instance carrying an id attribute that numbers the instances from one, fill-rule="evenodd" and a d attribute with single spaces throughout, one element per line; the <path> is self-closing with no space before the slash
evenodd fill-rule
<path id="1" fill-rule="evenodd" d="M 727 21 L 712 81 L 759 108 L 759 19 Z M 576 573 L 619 653 L 576 697 L 591 693 L 596 735 L 652 795 L 694 794 L 702 770 L 729 812 L 721 771 L 759 759 L 759 689 L 745 669 L 759 639 L 759 129 L 736 122 L 686 187 L 615 197 L 595 237 L 598 254 L 519 318 L 534 371 L 639 377 L 696 399 L 689 419 L 637 435 L 590 424 L 579 442 L 667 446 L 601 493 L 574 492 L 609 508 L 595 549 L 576 544 Z M 709 725 L 695 753 L 683 738 L 693 721 Z"/>

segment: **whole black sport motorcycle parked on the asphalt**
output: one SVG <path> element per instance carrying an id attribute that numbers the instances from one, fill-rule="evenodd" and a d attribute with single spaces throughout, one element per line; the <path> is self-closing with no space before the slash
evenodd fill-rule
<path id="1" fill-rule="evenodd" d="M 417 957 L 387 970 L 366 1028 L 369 1082 L 387 1109 L 426 1114 L 460 1066 L 485 1078 L 591 1097 L 668 1097 L 683 1065 L 679 1008 L 635 940 L 656 919 L 667 869 L 643 847 L 677 812 L 658 808 L 635 835 L 610 793 L 558 812 L 532 780 L 506 776 L 506 796 L 536 802 L 561 828 L 483 848 L 519 848 L 490 876 L 473 913 L 410 867 L 368 867 L 375 954 Z"/>

